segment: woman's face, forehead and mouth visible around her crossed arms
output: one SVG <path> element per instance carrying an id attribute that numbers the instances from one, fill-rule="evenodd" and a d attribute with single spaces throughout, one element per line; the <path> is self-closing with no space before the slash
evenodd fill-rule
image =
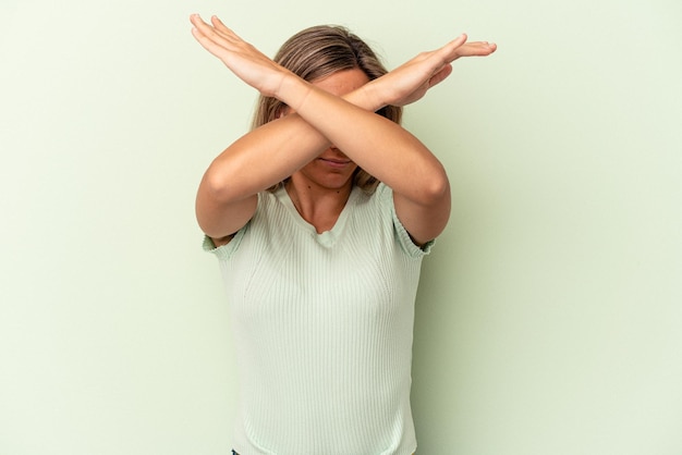
<path id="1" fill-rule="evenodd" d="M 369 82 L 369 77 L 360 69 L 333 73 L 313 84 L 336 96 L 349 94 Z M 350 132 L 349 132 L 350 133 Z M 292 175 L 292 181 L 315 184 L 322 188 L 340 189 L 351 185 L 357 164 L 351 161 L 342 150 L 334 146 L 322 151 L 315 160 L 307 163 Z"/>

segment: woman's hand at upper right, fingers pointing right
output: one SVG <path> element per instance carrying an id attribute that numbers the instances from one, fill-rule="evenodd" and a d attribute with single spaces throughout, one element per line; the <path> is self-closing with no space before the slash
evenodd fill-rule
<path id="1" fill-rule="evenodd" d="M 377 104 L 406 106 L 415 102 L 452 73 L 452 62 L 456 59 L 485 57 L 497 49 L 495 44 L 466 42 L 466 35 L 461 35 L 440 49 L 422 52 L 395 70 L 374 79 L 370 88 L 378 98 Z"/>

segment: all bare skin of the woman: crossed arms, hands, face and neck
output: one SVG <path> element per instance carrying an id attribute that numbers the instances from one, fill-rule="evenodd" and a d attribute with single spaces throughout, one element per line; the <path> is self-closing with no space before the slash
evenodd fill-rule
<path id="1" fill-rule="evenodd" d="M 442 232 L 450 216 L 444 169 L 416 137 L 374 112 L 419 100 L 451 74 L 454 60 L 488 56 L 496 45 L 466 42 L 461 35 L 370 82 L 362 71 L 349 70 L 308 83 L 217 17 L 208 24 L 194 14 L 191 22 L 206 50 L 260 94 L 290 107 L 230 145 L 206 171 L 196 214 L 216 245 L 229 242 L 253 217 L 258 192 L 289 176 L 287 190 L 302 217 L 318 232 L 331 229 L 356 165 L 393 189 L 395 212 L 417 245 Z"/>

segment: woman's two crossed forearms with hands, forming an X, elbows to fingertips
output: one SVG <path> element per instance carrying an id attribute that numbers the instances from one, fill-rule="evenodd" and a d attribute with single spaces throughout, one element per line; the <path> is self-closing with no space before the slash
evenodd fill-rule
<path id="1" fill-rule="evenodd" d="M 421 99 L 452 71 L 460 57 L 487 56 L 497 47 L 466 42 L 461 35 L 446 46 L 422 52 L 345 100 L 326 94 L 289 73 L 243 41 L 217 17 L 206 24 L 191 16 L 192 33 L 209 52 L 247 84 L 276 96 L 301 119 L 291 116 L 264 126 L 229 147 L 208 171 L 208 186 L 227 200 L 241 200 L 291 175 L 333 144 L 394 192 L 421 204 L 419 195 L 442 192 L 447 176 L 436 157 L 399 125 L 374 114 L 383 104 L 406 106 Z M 288 74 L 289 73 L 289 74 Z M 303 120 L 303 121 L 301 121 Z M 292 140 L 293 139 L 293 140 Z M 203 183 L 204 186 L 204 183 Z M 234 199 L 236 197 L 236 199 Z"/>

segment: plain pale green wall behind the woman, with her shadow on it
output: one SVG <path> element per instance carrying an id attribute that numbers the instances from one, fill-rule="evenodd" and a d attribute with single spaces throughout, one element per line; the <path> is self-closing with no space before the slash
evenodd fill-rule
<path id="1" fill-rule="evenodd" d="M 681 2 L 2 0 L 0 454 L 231 446 L 193 205 L 256 94 L 193 12 L 270 56 L 346 25 L 389 67 L 498 42 L 405 113 L 453 190 L 416 303 L 418 453 L 682 453 Z"/>

